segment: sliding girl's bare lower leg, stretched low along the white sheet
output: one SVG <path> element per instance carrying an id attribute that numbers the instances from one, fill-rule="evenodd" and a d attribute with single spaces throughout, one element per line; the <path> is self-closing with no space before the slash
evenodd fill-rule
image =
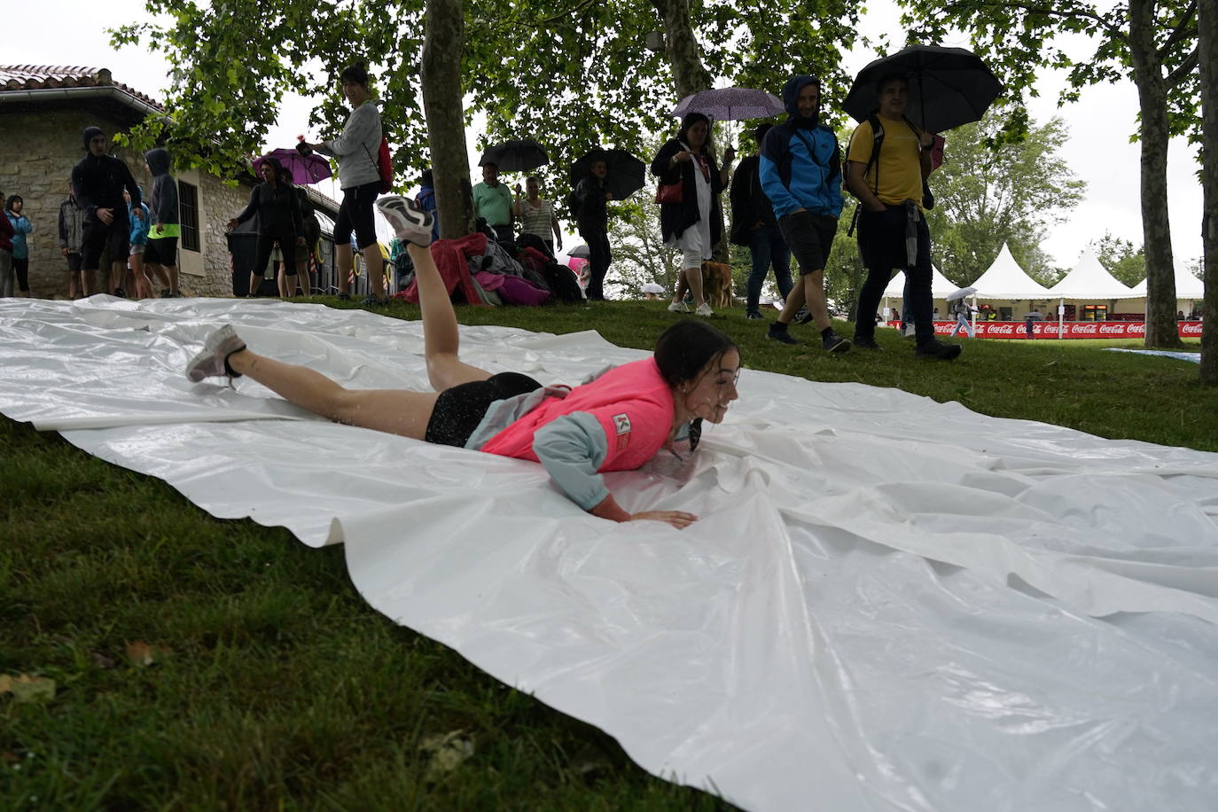
<path id="1" fill-rule="evenodd" d="M 285 364 L 248 349 L 228 357 L 235 373 L 247 375 L 290 403 L 328 420 L 423 439 L 436 405 L 435 392 L 348 390 L 307 366 Z"/>

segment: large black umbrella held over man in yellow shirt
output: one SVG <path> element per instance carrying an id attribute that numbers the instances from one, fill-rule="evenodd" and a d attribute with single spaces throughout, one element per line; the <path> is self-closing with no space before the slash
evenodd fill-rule
<path id="1" fill-rule="evenodd" d="M 894 73 L 909 82 L 905 114 L 927 133 L 980 121 L 1002 93 L 1002 83 L 972 51 L 914 45 L 860 71 L 845 97 L 845 112 L 856 122 L 866 121 L 879 106 L 876 83 Z"/>

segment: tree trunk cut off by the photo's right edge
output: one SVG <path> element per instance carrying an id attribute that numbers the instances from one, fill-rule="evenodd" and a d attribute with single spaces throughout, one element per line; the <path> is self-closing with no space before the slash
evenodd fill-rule
<path id="1" fill-rule="evenodd" d="M 1218 386 L 1218 0 L 1197 4 L 1201 52 L 1201 215 L 1206 301 L 1202 308 L 1201 385 Z"/>

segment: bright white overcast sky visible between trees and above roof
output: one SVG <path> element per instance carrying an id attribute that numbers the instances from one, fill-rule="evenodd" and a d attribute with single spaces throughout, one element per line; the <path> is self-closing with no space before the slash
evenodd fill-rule
<path id="1" fill-rule="evenodd" d="M 887 33 L 890 41 L 903 41 L 890 0 L 873 0 L 868 9 L 862 24 L 865 34 L 876 37 Z M 110 46 L 105 30 L 145 16 L 143 0 L 43 0 L 23 4 L 21 21 L 11 29 L 19 35 L 6 38 L 0 61 L 6 65 L 105 67 L 110 68 L 116 82 L 156 97 L 167 85 L 168 66 L 164 58 L 135 47 L 116 51 Z M 1089 54 L 1084 38 L 1071 44 L 1077 47 L 1077 56 Z M 959 41 L 944 45 L 967 47 L 968 41 L 961 37 Z M 875 57 L 871 51 L 851 52 L 847 55 L 845 67 L 853 73 Z M 1104 236 L 1106 230 L 1140 245 L 1139 145 L 1129 142 L 1138 114 L 1133 84 L 1122 82 L 1088 88 L 1078 102 L 1061 110 L 1056 107 L 1062 88 L 1061 75 L 1046 75 L 1038 88 L 1040 99 L 1032 100 L 1030 105 L 1033 118 L 1040 122 L 1060 114 L 1066 119 L 1071 138 L 1062 157 L 1079 178 L 1088 181 L 1085 201 L 1069 222 L 1050 231 L 1045 250 L 1057 265 L 1069 268 L 1086 243 Z M 268 136 L 270 146 L 291 146 L 296 134 L 304 131 L 307 121 L 308 103 L 290 100 L 279 125 Z M 1196 170 L 1196 151 L 1184 139 L 1175 139 L 1168 161 L 1168 192 L 1177 263 L 1191 262 L 1201 254 L 1201 187 L 1194 174 Z M 333 194 L 329 189 L 322 190 Z"/>

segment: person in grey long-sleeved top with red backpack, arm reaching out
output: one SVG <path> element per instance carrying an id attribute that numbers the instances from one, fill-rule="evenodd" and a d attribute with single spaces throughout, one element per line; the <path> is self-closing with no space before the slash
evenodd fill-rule
<path id="1" fill-rule="evenodd" d="M 369 89 L 368 71 L 363 65 L 352 65 L 342 71 L 342 94 L 351 103 L 342 135 L 322 144 L 301 142 L 304 150 L 315 150 L 339 159 L 339 186 L 342 187 L 342 205 L 334 223 L 334 253 L 339 265 L 339 298 L 351 298 L 348 274 L 353 261 L 351 233 L 364 254 L 368 269 L 368 297 L 364 306 L 384 303 L 381 291 L 385 285 L 385 265 L 376 228 L 373 223 L 373 203 L 380 194 L 380 111 Z"/>

